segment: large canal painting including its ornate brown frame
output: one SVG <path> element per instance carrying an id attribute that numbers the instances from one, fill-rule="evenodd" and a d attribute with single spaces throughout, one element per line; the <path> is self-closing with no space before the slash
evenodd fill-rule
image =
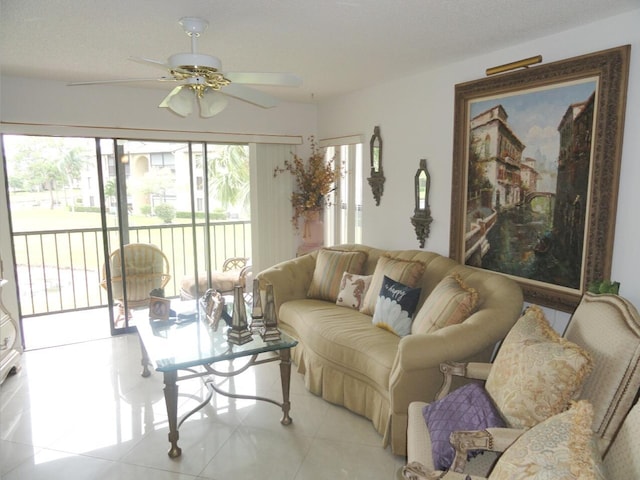
<path id="1" fill-rule="evenodd" d="M 629 53 L 456 85 L 451 258 L 568 312 L 609 279 Z"/>

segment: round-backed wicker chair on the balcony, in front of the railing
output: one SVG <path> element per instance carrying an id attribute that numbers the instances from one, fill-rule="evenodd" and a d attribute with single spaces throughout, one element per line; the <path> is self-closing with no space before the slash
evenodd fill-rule
<path id="1" fill-rule="evenodd" d="M 124 255 L 118 249 L 109 256 L 111 290 L 119 306 L 116 326 L 125 319 L 125 305 L 128 309 L 148 306 L 151 290 L 163 289 L 171 279 L 169 261 L 155 245 L 130 243 L 123 251 Z M 103 267 L 102 288 L 107 289 L 107 282 L 106 267 Z"/>

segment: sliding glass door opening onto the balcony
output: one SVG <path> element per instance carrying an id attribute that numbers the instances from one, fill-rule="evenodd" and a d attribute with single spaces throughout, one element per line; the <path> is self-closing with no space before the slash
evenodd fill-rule
<path id="1" fill-rule="evenodd" d="M 3 146 L 23 319 L 59 331 L 61 314 L 96 309 L 85 318 L 101 311 L 110 334 L 132 331 L 105 308 L 118 300 L 108 259 L 126 245 L 160 249 L 169 298 L 250 256 L 246 145 L 5 135 Z"/>

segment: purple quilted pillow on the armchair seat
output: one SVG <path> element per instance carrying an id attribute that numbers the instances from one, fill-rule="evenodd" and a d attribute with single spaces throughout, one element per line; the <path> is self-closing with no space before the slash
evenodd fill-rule
<path id="1" fill-rule="evenodd" d="M 506 426 L 484 387 L 477 383 L 469 383 L 426 405 L 422 416 L 429 429 L 436 470 L 448 470 L 453 463 L 455 450 L 449 443 L 451 432 Z"/>

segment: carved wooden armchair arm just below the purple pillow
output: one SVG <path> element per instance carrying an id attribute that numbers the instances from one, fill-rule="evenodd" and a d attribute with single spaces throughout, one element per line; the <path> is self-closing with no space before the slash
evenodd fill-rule
<path id="1" fill-rule="evenodd" d="M 451 464 L 454 472 L 464 472 L 467 456 L 471 450 L 504 452 L 525 432 L 519 428 L 487 428 L 485 430 L 462 430 L 451 433 L 449 442 L 456 452 Z"/>

